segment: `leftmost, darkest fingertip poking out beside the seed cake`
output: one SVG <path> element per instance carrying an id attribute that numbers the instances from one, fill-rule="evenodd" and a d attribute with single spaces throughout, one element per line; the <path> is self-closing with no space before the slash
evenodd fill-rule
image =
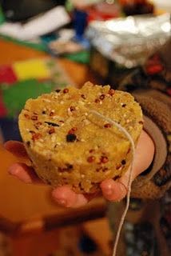
<path id="1" fill-rule="evenodd" d="M 22 142 L 9 141 L 4 144 L 6 150 L 18 158 L 28 158 L 26 149 Z"/>

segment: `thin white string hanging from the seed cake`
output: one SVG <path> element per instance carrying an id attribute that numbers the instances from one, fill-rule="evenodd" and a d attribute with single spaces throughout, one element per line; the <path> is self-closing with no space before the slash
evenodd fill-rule
<path id="1" fill-rule="evenodd" d="M 134 145 L 134 142 L 133 142 L 133 138 L 130 136 L 129 132 L 127 130 L 125 130 L 125 128 L 122 127 L 120 124 L 118 124 L 117 122 L 113 121 L 110 118 L 106 118 L 103 114 L 98 113 L 96 110 L 89 110 L 89 112 L 92 113 L 92 114 L 97 115 L 99 118 L 104 119 L 105 121 L 109 122 L 110 124 L 113 124 L 114 126 L 117 126 L 117 128 L 119 130 L 121 130 L 121 132 L 123 134 L 125 134 L 125 136 L 129 139 L 129 142 L 131 144 L 133 161 L 134 161 L 135 145 Z M 113 256 L 117 255 L 117 245 L 118 245 L 118 241 L 119 241 L 119 238 L 120 238 L 120 235 L 121 235 L 121 228 L 122 228 L 123 223 L 125 221 L 125 216 L 127 214 L 127 211 L 129 210 L 130 192 L 131 192 L 131 184 L 132 184 L 132 176 L 133 176 L 133 161 L 131 163 L 130 170 L 129 170 L 128 193 L 127 193 L 127 196 L 126 196 L 126 206 L 125 206 L 125 210 L 124 210 L 124 212 L 121 216 L 121 221 L 120 221 L 118 229 L 117 229 L 117 235 L 116 235 L 114 246 L 113 246 Z"/>

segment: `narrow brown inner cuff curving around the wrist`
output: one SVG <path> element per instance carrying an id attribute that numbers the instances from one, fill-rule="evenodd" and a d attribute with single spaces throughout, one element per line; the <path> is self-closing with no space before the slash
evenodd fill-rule
<path id="1" fill-rule="evenodd" d="M 165 190 L 169 189 L 170 184 L 157 186 L 153 177 L 165 165 L 167 158 L 167 142 L 158 126 L 147 116 L 144 116 L 144 130 L 153 139 L 155 154 L 153 163 L 148 170 L 139 175 L 132 185 L 131 196 L 134 198 L 160 198 Z"/>

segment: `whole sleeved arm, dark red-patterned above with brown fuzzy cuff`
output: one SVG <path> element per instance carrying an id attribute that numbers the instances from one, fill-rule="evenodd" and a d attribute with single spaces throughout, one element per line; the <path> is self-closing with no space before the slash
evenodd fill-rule
<path id="1" fill-rule="evenodd" d="M 129 90 L 140 103 L 145 132 L 155 145 L 153 163 L 133 182 L 132 196 L 160 198 L 171 186 L 171 38 L 119 90 Z"/>

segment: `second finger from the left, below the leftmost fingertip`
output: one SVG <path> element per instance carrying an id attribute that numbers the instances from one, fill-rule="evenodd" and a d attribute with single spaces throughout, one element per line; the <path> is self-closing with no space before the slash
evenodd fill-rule
<path id="1" fill-rule="evenodd" d="M 25 183 L 43 183 L 35 174 L 34 169 L 31 166 L 26 166 L 25 163 L 15 163 L 14 165 L 10 166 L 8 172 L 10 175 L 13 175 Z"/>

